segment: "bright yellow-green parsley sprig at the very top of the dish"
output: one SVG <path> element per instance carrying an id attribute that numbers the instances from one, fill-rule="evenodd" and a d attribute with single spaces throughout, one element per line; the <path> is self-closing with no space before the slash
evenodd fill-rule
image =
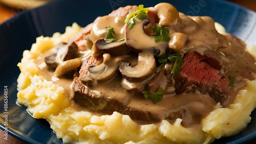
<path id="1" fill-rule="evenodd" d="M 144 8 L 144 5 L 139 5 L 139 7 L 131 12 L 131 14 L 125 18 L 124 22 L 128 22 L 128 29 L 132 29 L 136 24 L 135 18 L 143 19 L 147 16 L 148 8 Z"/>

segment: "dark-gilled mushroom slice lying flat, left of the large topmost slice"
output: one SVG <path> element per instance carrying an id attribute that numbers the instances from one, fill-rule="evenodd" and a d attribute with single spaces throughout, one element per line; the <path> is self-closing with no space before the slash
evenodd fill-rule
<path id="1" fill-rule="evenodd" d="M 95 44 L 103 53 L 109 53 L 113 57 L 123 56 L 131 52 L 130 47 L 124 40 L 106 42 L 103 38 L 99 38 L 95 41 Z"/>

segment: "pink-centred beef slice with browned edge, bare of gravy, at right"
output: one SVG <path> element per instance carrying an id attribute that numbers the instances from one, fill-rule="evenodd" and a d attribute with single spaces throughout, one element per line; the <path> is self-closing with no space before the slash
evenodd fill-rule
<path id="1" fill-rule="evenodd" d="M 195 92 L 209 93 L 221 104 L 228 100 L 229 79 L 209 64 L 211 59 L 195 52 L 184 55 L 184 63 L 178 75 L 174 76 L 176 93 Z"/>

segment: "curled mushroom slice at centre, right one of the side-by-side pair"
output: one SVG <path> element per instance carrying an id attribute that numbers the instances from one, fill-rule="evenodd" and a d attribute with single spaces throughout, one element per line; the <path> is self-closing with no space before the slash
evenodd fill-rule
<path id="1" fill-rule="evenodd" d="M 144 50 L 138 55 L 137 64 L 131 66 L 130 63 L 122 62 L 119 71 L 127 80 L 143 80 L 155 73 L 156 60 L 153 50 Z"/>

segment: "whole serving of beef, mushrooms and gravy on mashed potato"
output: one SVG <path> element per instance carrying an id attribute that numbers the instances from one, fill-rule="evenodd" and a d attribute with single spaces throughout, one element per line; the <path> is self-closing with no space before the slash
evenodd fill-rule
<path id="1" fill-rule="evenodd" d="M 211 143 L 250 122 L 248 47 L 168 3 L 120 7 L 38 37 L 18 63 L 17 103 L 65 143 Z"/>

